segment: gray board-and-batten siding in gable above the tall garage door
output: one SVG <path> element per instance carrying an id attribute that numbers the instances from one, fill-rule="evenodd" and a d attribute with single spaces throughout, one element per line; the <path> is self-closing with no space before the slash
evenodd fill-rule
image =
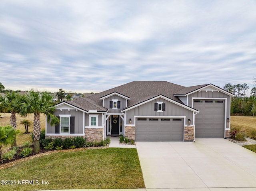
<path id="1" fill-rule="evenodd" d="M 230 96 L 218 91 L 198 91 L 188 95 L 188 106 L 193 106 L 192 98 L 227 98 L 227 116 L 230 116 Z"/>

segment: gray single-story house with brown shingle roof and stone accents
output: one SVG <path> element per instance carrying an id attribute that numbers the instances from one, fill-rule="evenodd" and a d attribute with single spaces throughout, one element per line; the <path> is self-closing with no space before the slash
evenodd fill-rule
<path id="1" fill-rule="evenodd" d="M 133 81 L 87 98 L 56 104 L 60 124 L 46 137 L 88 141 L 124 135 L 135 141 L 194 141 L 230 136 L 230 97 L 212 84 L 184 87 Z"/>

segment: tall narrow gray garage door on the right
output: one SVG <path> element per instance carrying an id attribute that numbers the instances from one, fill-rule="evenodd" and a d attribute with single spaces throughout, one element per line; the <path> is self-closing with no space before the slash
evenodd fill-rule
<path id="1" fill-rule="evenodd" d="M 195 138 L 224 138 L 224 100 L 194 100 Z"/>

